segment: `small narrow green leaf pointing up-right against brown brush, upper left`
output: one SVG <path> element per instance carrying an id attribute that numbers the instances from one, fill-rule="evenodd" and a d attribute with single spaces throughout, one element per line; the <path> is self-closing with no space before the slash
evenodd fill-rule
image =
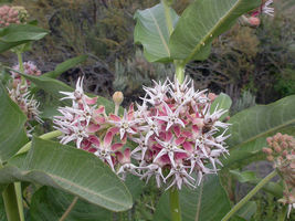
<path id="1" fill-rule="evenodd" d="M 59 64 L 54 71 L 43 74 L 43 76 L 56 78 L 57 76 L 60 76 L 62 73 L 66 72 L 67 70 L 85 62 L 87 57 L 88 57 L 87 55 L 80 55 L 80 56 L 70 59 Z"/>

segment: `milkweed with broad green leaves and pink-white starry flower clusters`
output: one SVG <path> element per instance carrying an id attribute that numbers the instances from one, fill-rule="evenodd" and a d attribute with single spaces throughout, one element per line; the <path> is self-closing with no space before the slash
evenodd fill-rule
<path id="1" fill-rule="evenodd" d="M 24 199 L 24 181 L 75 196 L 59 220 L 71 220 L 81 200 L 107 209 L 104 212 L 129 210 L 136 200 L 130 194 L 135 183 L 155 183 L 162 193 L 155 220 L 244 220 L 239 211 L 259 190 L 267 191 L 267 185 L 276 187 L 282 203 L 278 220 L 292 215 L 294 95 L 230 116 L 226 94 L 198 90 L 194 80 L 186 75 L 186 64 L 206 60 L 212 41 L 233 24 L 259 28 L 261 17 L 274 17 L 273 1 L 199 0 L 182 14 L 172 6 L 173 1 L 162 0 L 138 10 L 134 41 L 143 46 L 147 61 L 172 63 L 175 77 L 152 81 L 151 87 L 143 85 L 145 94 L 126 107 L 122 106 L 122 92 L 115 92 L 113 101 L 86 93 L 85 76 L 77 78 L 75 88 L 55 80 L 84 62 L 85 55 L 48 73 L 33 61 L 24 62 L 22 54 L 49 32 L 30 21 L 23 7 L 0 7 L 0 52 L 10 51 L 18 57 L 11 67 L 1 64 L 0 84 L 1 207 L 9 221 L 25 220 L 24 210 L 43 220 L 34 213 L 36 208 L 30 208 L 36 203 L 30 206 Z M 54 102 L 46 104 L 39 92 Z M 52 125 L 52 130 L 38 135 L 36 128 L 45 125 Z M 274 168 L 265 178 L 250 179 L 240 170 L 261 159 Z M 130 179 L 131 185 L 126 181 Z M 231 188 L 225 186 L 241 180 L 255 187 L 231 207 Z M 41 190 L 36 193 L 45 189 Z M 33 196 L 32 201 L 35 199 Z M 196 204 L 197 211 L 186 203 Z M 193 213 L 192 218 L 188 213 Z"/>

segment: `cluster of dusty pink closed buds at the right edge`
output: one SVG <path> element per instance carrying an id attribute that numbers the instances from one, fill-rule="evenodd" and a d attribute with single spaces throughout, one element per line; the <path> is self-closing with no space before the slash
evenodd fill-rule
<path id="1" fill-rule="evenodd" d="M 274 162 L 285 181 L 284 197 L 280 201 L 295 209 L 295 139 L 288 135 L 277 133 L 266 139 L 268 147 L 263 151 L 267 155 L 267 160 Z"/>

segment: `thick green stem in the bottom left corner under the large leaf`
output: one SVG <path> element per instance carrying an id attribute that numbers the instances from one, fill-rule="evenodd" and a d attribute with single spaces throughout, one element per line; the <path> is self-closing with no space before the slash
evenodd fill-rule
<path id="1" fill-rule="evenodd" d="M 8 221 L 21 221 L 13 183 L 8 185 L 7 189 L 2 192 L 2 197 Z"/>

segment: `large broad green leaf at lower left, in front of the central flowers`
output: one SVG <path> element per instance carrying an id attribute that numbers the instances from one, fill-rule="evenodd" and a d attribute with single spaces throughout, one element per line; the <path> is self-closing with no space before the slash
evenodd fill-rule
<path id="1" fill-rule="evenodd" d="M 17 180 L 54 187 L 112 211 L 133 206 L 126 186 L 95 155 L 35 137 L 28 155 L 0 170 L 0 185 Z"/>

